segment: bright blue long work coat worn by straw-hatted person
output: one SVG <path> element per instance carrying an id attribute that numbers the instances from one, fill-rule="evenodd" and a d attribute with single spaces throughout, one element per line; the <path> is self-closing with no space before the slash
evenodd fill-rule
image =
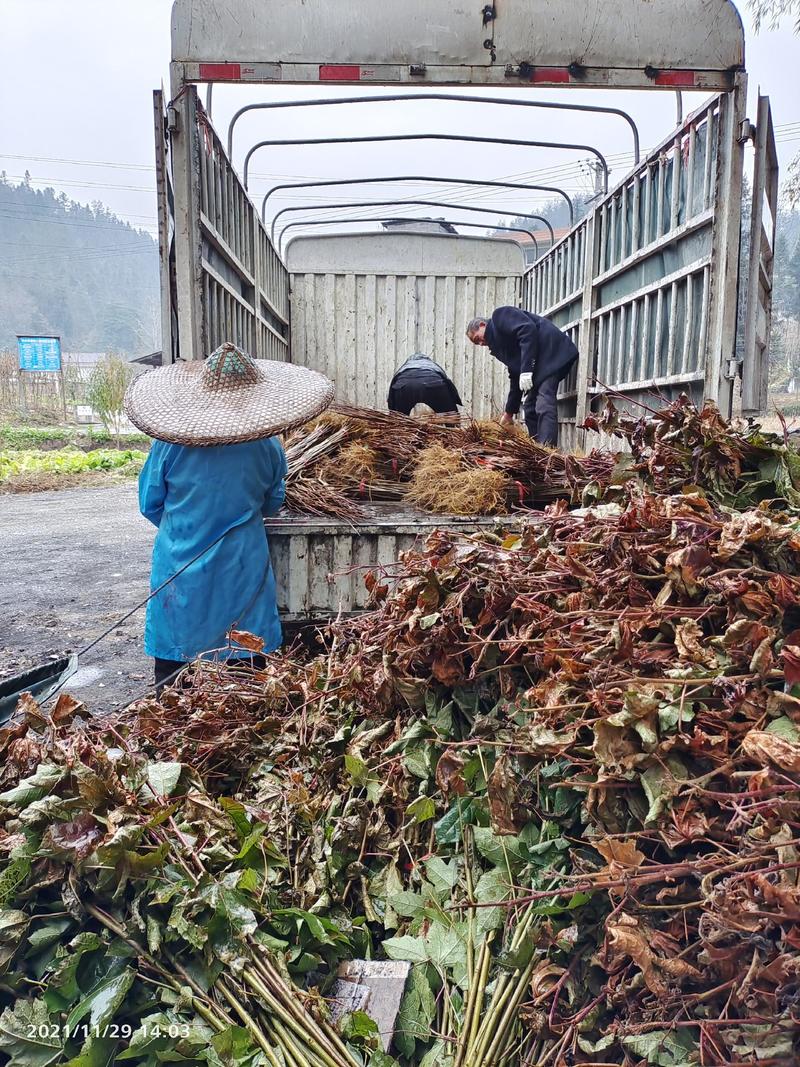
<path id="1" fill-rule="evenodd" d="M 158 527 L 150 590 L 189 567 L 147 604 L 148 655 L 188 663 L 223 649 L 231 627 L 256 634 L 266 652 L 281 644 L 263 517 L 281 508 L 286 473 L 274 437 L 210 448 L 154 442 L 139 476 L 140 510 Z"/>

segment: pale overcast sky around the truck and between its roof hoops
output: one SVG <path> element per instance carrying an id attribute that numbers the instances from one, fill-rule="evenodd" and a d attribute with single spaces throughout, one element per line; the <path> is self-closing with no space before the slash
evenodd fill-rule
<path id="1" fill-rule="evenodd" d="M 609 11 L 613 3 L 609 2 Z M 11 179 L 30 171 L 37 188 L 52 186 L 70 197 L 100 200 L 131 224 L 155 233 L 151 90 L 169 83 L 170 0 L 2 0 L 0 3 L 0 169 Z M 756 36 L 741 4 L 748 34 L 747 66 L 751 97 L 758 85 L 772 100 L 782 164 L 800 149 L 800 38 L 786 20 Z M 336 60 L 336 57 L 331 57 Z M 204 91 L 205 92 L 205 91 Z M 339 95 L 353 95 L 353 87 Z M 369 90 L 368 92 L 377 92 Z M 475 92 L 475 90 L 474 90 Z M 485 91 L 482 91 L 485 93 Z M 233 112 L 256 99 L 335 95 L 319 86 L 224 86 L 213 96 L 213 121 L 223 139 Z M 538 92 L 539 98 L 608 103 L 627 109 L 641 131 L 642 147 L 657 144 L 675 122 L 675 98 L 668 93 L 599 93 L 577 90 Z M 205 98 L 205 95 L 204 95 Z M 508 92 L 505 98 L 508 97 Z M 687 96 L 687 110 L 702 96 Z M 523 109 L 519 109 L 523 110 Z M 750 106 L 750 115 L 755 109 Z M 235 159 L 265 138 L 346 136 L 386 132 L 466 132 L 490 137 L 588 142 L 609 158 L 619 179 L 633 161 L 630 132 L 619 118 L 449 103 L 384 103 L 357 109 L 320 108 L 263 113 L 243 120 Z M 567 192 L 588 191 L 586 154 L 526 147 L 483 148 L 436 142 L 261 149 L 252 164 L 252 188 L 260 206 L 263 192 L 279 181 L 305 178 L 389 175 L 462 175 L 540 181 Z M 403 195 L 431 197 L 435 187 L 402 187 Z M 319 191 L 314 191 L 319 195 Z M 364 194 L 364 195 L 362 195 Z M 438 196 L 464 198 L 439 189 Z M 524 206 L 510 192 L 470 192 L 473 203 L 498 209 Z M 326 200 L 374 200 L 378 189 L 334 189 Z M 432 198 L 437 198 L 433 194 Z M 313 203 L 286 195 L 275 208 Z M 273 203 L 272 201 L 270 203 Z M 530 203 L 530 202 L 529 202 Z M 423 211 L 423 209 L 420 209 Z M 459 218 L 458 211 L 434 213 Z M 469 217 L 462 211 L 460 218 Z M 503 221 L 498 219 L 498 221 Z M 507 220 L 506 220 L 507 221 Z M 0 220 L 1 225 L 1 220 Z"/>

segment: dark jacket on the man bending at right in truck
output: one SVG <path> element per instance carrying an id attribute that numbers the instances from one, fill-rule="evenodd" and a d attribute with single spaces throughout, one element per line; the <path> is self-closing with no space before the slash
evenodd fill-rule
<path id="1" fill-rule="evenodd" d="M 519 375 L 533 375 L 533 388 L 558 375 L 565 378 L 578 357 L 578 350 L 558 327 L 540 315 L 519 307 L 498 307 L 486 323 L 486 344 L 492 355 L 509 370 L 506 411 L 519 411 Z"/>

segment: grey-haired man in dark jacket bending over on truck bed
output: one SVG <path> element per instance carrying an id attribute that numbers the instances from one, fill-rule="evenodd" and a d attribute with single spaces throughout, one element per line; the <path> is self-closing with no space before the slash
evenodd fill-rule
<path id="1" fill-rule="evenodd" d="M 522 402 L 531 437 L 555 446 L 558 385 L 578 357 L 578 350 L 566 334 L 540 315 L 519 307 L 498 307 L 491 319 L 473 319 L 467 337 L 474 345 L 487 347 L 508 367 L 509 397 L 501 421 L 513 423 Z"/>

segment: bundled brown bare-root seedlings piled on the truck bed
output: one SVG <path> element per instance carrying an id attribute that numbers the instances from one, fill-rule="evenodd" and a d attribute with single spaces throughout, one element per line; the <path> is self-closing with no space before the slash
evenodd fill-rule
<path id="1" fill-rule="evenodd" d="M 565 456 L 499 423 L 337 408 L 288 440 L 290 511 L 352 519 L 364 501 L 433 514 L 501 514 L 609 485 L 609 452 Z M 362 512 L 364 515 L 365 512 Z"/>

